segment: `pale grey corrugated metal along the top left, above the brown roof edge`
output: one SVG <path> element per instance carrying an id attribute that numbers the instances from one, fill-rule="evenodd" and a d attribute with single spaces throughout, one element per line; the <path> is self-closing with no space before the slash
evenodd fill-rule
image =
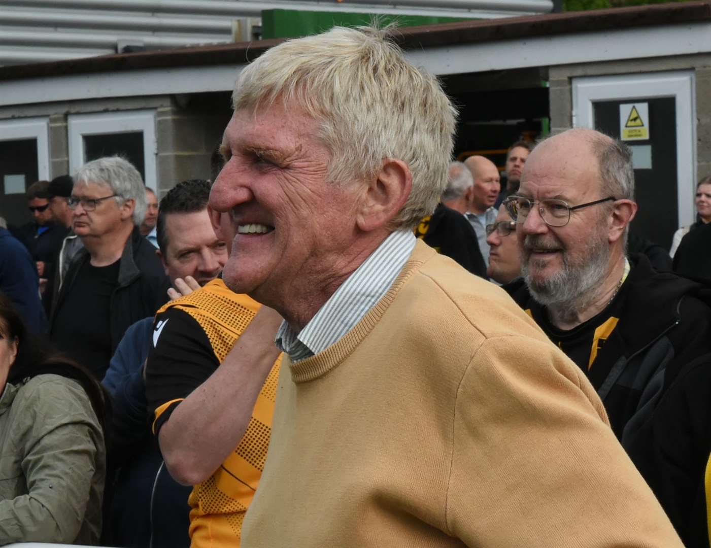
<path id="1" fill-rule="evenodd" d="M 2 0 L 0 65 L 247 41 L 263 9 L 499 18 L 552 0 Z"/>

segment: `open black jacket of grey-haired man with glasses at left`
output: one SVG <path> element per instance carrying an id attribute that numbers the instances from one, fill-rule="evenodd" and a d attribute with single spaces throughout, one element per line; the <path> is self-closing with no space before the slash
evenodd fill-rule
<path id="1" fill-rule="evenodd" d="M 57 310 L 62 306 L 83 264 L 90 259 L 89 252 L 81 249 L 67 271 L 57 296 L 52 303 L 50 331 Z M 137 227 L 126 242 L 119 263 L 119 278 L 109 304 L 111 351 L 114 353 L 127 328 L 146 316 L 153 316 L 168 301 L 170 280 L 166 276 L 156 248 L 146 240 Z"/>

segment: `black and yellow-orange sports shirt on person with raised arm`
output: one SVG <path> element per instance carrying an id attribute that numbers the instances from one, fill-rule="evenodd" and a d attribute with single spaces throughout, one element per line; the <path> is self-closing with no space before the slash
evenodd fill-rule
<path id="1" fill-rule="evenodd" d="M 220 366 L 259 308 L 260 303 L 214 279 L 158 311 L 146 366 L 146 400 L 156 436 L 180 402 Z M 240 545 L 242 519 L 267 458 L 281 361 L 279 355 L 235 451 L 193 487 L 187 501 L 193 547 Z"/>

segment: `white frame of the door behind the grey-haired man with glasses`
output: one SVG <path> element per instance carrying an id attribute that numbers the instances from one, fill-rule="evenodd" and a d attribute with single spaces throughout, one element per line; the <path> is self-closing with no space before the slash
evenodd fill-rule
<path id="1" fill-rule="evenodd" d="M 156 177 L 156 111 L 129 110 L 102 112 L 100 114 L 70 114 L 67 117 L 69 133 L 69 169 L 74 173 L 86 163 L 84 136 L 126 133 L 143 133 L 144 173 L 146 186 L 157 189 Z"/>

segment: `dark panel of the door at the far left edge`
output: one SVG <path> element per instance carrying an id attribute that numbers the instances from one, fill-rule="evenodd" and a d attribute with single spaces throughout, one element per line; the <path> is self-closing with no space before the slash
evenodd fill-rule
<path id="1" fill-rule="evenodd" d="M 6 195 L 5 176 L 24 176 L 25 188 L 37 181 L 37 139 L 0 141 L 0 216 L 8 225 L 24 225 L 32 220 L 25 194 Z"/>

